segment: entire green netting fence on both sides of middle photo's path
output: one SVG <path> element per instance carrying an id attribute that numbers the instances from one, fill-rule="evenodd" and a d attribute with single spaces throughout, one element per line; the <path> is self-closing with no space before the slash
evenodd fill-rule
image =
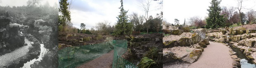
<path id="1" fill-rule="evenodd" d="M 100 44 L 66 47 L 58 51 L 59 68 L 76 68 L 114 49 L 112 68 L 137 68 L 120 57 L 127 50 L 127 40 L 113 40 Z"/>

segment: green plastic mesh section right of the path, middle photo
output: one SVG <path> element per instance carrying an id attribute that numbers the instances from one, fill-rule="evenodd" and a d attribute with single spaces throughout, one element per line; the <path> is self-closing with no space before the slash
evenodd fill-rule
<path id="1" fill-rule="evenodd" d="M 127 50 L 127 40 L 114 40 L 114 59 L 112 63 L 112 68 L 137 68 L 134 64 L 130 63 L 126 59 L 123 59 L 121 55 L 126 53 Z"/>

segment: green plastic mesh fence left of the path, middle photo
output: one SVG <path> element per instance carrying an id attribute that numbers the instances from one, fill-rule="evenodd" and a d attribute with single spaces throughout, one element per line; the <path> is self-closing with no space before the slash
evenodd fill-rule
<path id="1" fill-rule="evenodd" d="M 113 50 L 111 42 L 67 47 L 58 51 L 59 68 L 76 68 Z"/>

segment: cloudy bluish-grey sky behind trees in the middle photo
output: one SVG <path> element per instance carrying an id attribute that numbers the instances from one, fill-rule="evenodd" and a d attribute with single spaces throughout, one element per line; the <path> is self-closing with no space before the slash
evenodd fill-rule
<path id="1" fill-rule="evenodd" d="M 159 1 L 152 0 L 151 11 L 149 15 L 153 17 L 161 10 L 157 9 Z M 140 0 L 123 0 L 123 7 L 128 15 L 135 12 L 144 15 L 142 8 L 139 7 Z M 113 26 L 120 14 L 120 0 L 74 0 L 71 7 L 71 22 L 76 28 L 80 28 L 81 23 L 85 23 L 86 29 L 96 26 L 96 23 L 107 20 Z"/>

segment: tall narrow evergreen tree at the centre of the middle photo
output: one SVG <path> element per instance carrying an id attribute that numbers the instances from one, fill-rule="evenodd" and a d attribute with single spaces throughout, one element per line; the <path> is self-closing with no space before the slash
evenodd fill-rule
<path id="1" fill-rule="evenodd" d="M 118 17 L 116 17 L 117 20 L 117 24 L 115 26 L 116 31 L 114 31 L 114 34 L 116 35 L 129 35 L 132 32 L 132 23 L 128 23 L 128 16 L 126 15 L 126 13 L 128 11 L 123 9 L 123 0 L 120 1 L 121 2 L 121 7 L 119 7 L 120 10 L 120 15 L 118 15 Z"/>

